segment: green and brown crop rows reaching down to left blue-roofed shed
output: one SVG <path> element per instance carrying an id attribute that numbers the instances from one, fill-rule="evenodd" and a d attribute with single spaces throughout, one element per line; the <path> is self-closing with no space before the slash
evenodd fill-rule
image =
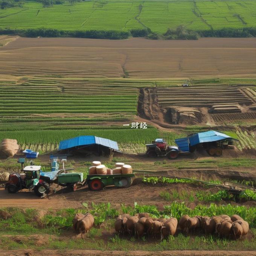
<path id="1" fill-rule="evenodd" d="M 27 79 L 0 82 L 0 140 L 17 139 L 40 152 L 58 148 L 62 139 L 95 135 L 116 140 L 124 152 L 144 152 L 159 137 L 154 127 L 126 128 L 136 120 L 138 88 L 148 81 Z M 183 136 L 181 134 L 180 136 Z M 177 133 L 164 134 L 174 142 Z"/>

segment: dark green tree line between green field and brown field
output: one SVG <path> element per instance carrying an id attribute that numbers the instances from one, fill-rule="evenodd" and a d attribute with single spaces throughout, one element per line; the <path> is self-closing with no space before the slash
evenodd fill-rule
<path id="1" fill-rule="evenodd" d="M 183 26 L 168 29 L 165 33 L 152 32 L 150 29 L 119 30 L 59 30 L 52 28 L 35 29 L 2 29 L 0 35 L 20 35 L 21 37 L 77 37 L 98 39 L 127 39 L 129 37 L 145 37 L 163 40 L 197 40 L 200 37 L 256 37 L 256 27 L 223 28 L 216 30 L 189 30 Z"/>

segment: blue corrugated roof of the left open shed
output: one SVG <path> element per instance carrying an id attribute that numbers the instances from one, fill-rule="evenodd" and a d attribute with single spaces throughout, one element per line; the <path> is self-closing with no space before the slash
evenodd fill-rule
<path id="1" fill-rule="evenodd" d="M 59 150 L 69 149 L 69 148 L 79 148 L 79 147 L 90 146 L 95 144 L 105 146 L 117 152 L 121 152 L 119 150 L 119 147 L 116 141 L 104 139 L 96 136 L 79 136 L 72 139 L 61 140 L 61 142 L 59 143 Z"/>

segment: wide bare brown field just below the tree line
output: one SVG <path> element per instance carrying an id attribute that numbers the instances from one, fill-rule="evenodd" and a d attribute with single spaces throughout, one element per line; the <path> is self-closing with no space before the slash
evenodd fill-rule
<path id="1" fill-rule="evenodd" d="M 255 38 L 196 41 L 18 38 L 0 48 L 0 74 L 76 77 L 254 77 Z"/>

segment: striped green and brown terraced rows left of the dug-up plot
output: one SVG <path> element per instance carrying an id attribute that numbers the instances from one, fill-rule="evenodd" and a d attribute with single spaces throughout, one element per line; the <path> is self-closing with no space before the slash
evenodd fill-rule
<path id="1" fill-rule="evenodd" d="M 111 82 L 110 82 L 111 83 Z M 2 116 L 50 113 L 136 114 L 137 88 L 87 81 L 34 79 L 0 87 Z"/>

